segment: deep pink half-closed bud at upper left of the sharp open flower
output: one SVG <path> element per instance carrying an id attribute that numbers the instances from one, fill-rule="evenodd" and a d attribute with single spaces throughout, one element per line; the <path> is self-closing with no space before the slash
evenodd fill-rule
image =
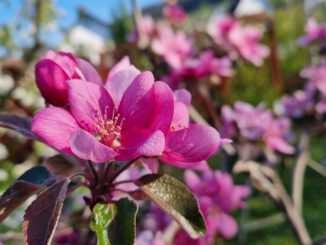
<path id="1" fill-rule="evenodd" d="M 35 66 L 36 84 L 44 99 L 55 106 L 68 104 L 68 83 L 70 79 L 101 83 L 95 69 L 85 60 L 68 52 L 47 51 Z"/>

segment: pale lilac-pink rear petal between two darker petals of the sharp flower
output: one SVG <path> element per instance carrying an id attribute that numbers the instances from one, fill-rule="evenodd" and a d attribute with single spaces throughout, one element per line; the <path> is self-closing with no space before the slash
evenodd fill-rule
<path id="1" fill-rule="evenodd" d="M 114 104 L 117 108 L 119 107 L 123 94 L 139 74 L 140 72 L 138 70 L 129 68 L 119 70 L 109 76 L 107 82 L 105 83 L 105 88 L 112 96 Z"/>

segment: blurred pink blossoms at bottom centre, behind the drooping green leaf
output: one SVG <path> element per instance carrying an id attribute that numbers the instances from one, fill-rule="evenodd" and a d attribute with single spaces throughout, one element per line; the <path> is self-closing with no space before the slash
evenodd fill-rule
<path id="1" fill-rule="evenodd" d="M 173 244 L 209 245 L 214 244 L 218 238 L 233 238 L 238 231 L 238 226 L 229 213 L 245 205 L 243 199 L 249 196 L 249 188 L 234 185 L 232 177 L 221 171 L 205 171 L 200 177 L 188 170 L 185 172 L 184 179 L 198 199 L 201 212 L 205 217 L 207 233 L 193 240 L 180 229 L 174 235 Z M 170 217 L 156 206 L 151 206 L 143 221 L 143 228 L 137 236 L 136 244 L 166 244 L 164 232 L 169 229 L 170 224 Z"/>

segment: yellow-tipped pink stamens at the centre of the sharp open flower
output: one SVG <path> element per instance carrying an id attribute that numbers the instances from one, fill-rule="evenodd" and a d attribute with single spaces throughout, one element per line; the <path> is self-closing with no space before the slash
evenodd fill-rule
<path id="1" fill-rule="evenodd" d="M 103 144 L 115 149 L 121 145 L 121 128 L 124 118 L 112 111 L 111 117 L 108 117 L 109 107 L 105 107 L 104 115 L 95 112 L 97 122 L 95 123 L 95 136 Z"/>

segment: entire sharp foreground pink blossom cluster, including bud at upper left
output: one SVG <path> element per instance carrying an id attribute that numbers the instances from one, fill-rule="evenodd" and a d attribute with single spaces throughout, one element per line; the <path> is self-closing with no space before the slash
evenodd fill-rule
<path id="1" fill-rule="evenodd" d="M 32 131 L 62 152 L 95 163 L 159 157 L 196 167 L 222 142 L 215 129 L 189 123 L 187 91 L 173 93 L 128 58 L 105 83 L 89 63 L 64 52 L 47 52 L 35 73 L 53 106 L 35 115 Z"/>

